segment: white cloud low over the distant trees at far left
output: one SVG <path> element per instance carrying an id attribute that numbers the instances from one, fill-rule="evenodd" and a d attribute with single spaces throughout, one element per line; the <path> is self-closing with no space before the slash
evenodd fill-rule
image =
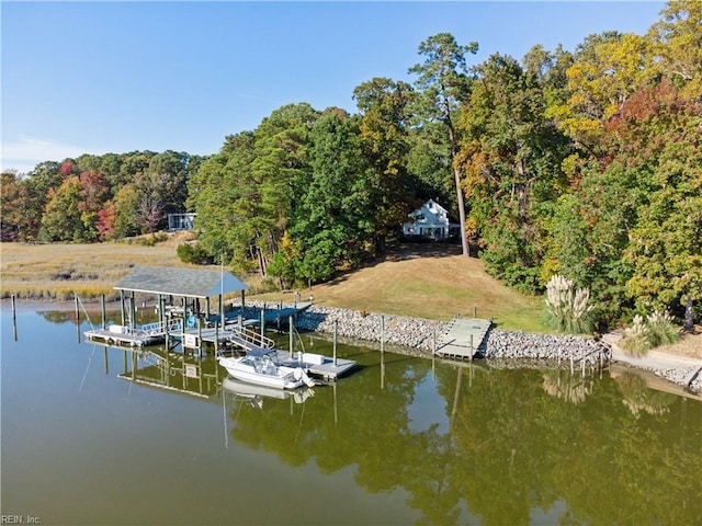
<path id="1" fill-rule="evenodd" d="M 20 173 L 26 173 L 44 161 L 63 161 L 68 157 L 76 158 L 83 153 L 100 153 L 95 150 L 63 144 L 54 139 L 43 139 L 29 135 L 21 135 L 16 139 L 8 141 L 3 140 L 0 149 L 2 151 L 0 170 L 16 170 Z"/>

